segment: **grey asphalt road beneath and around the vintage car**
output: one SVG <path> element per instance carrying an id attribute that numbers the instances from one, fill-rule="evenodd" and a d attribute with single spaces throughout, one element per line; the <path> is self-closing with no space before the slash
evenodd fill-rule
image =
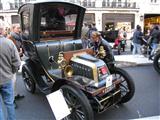
<path id="1" fill-rule="evenodd" d="M 160 75 L 151 65 L 124 68 L 135 82 L 135 96 L 128 103 L 113 106 L 95 120 L 125 120 L 160 115 Z M 21 75 L 18 77 L 18 91 L 25 98 L 17 101 L 17 120 L 54 120 L 53 113 L 44 94 L 38 89 L 35 94 L 25 90 Z"/>

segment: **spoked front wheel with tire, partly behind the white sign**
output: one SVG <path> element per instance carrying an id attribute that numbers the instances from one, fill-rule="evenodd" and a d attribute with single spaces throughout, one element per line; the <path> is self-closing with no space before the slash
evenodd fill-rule
<path id="1" fill-rule="evenodd" d="M 94 120 L 92 107 L 80 90 L 70 85 L 61 87 L 71 114 L 63 120 Z"/>

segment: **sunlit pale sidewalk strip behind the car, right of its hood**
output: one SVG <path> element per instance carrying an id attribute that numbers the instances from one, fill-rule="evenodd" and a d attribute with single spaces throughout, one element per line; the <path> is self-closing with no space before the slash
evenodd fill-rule
<path id="1" fill-rule="evenodd" d="M 150 65 L 153 61 L 148 60 L 143 55 L 115 55 L 115 61 L 117 66 L 138 66 L 138 65 Z"/>

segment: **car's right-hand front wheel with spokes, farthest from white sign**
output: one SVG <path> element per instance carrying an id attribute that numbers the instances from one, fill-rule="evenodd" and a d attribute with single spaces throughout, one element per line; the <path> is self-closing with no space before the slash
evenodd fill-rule
<path id="1" fill-rule="evenodd" d="M 112 71 L 112 75 L 122 80 L 120 83 L 121 101 L 119 103 L 128 102 L 134 96 L 135 92 L 135 85 L 132 77 L 121 68 L 115 68 L 115 70 Z"/>

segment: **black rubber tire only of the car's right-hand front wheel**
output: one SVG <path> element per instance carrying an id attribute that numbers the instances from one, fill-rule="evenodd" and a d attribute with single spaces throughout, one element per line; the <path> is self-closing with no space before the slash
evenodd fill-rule
<path id="1" fill-rule="evenodd" d="M 129 92 L 126 93 L 126 95 L 123 96 L 121 98 L 121 101 L 119 102 L 120 104 L 121 103 L 126 103 L 129 100 L 131 100 L 132 97 L 134 96 L 134 93 L 135 93 L 135 84 L 133 82 L 132 77 L 125 70 L 123 70 L 121 68 L 118 68 L 118 67 L 115 67 L 115 70 L 111 74 L 114 74 L 114 73 L 121 75 L 125 79 L 125 81 L 127 83 Z"/>

